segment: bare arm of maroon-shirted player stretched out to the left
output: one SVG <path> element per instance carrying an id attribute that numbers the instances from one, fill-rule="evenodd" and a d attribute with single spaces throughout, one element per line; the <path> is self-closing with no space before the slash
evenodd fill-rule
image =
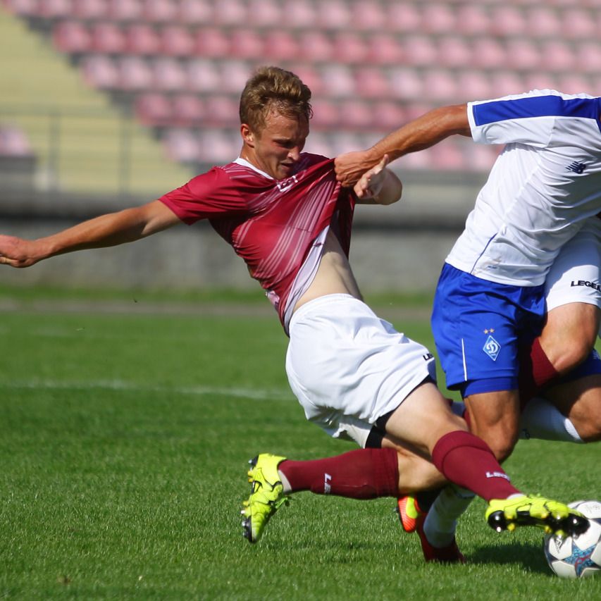
<path id="1" fill-rule="evenodd" d="M 89 219 L 38 240 L 0 235 L 0 264 L 29 267 L 57 254 L 140 240 L 176 223 L 181 222 L 175 213 L 155 200 L 133 209 Z"/>

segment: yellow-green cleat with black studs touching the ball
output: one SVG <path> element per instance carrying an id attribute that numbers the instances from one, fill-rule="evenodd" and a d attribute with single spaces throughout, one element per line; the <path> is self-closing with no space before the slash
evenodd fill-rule
<path id="1" fill-rule="evenodd" d="M 492 499 L 485 518 L 488 525 L 497 532 L 511 532 L 517 526 L 538 526 L 545 533 L 572 536 L 581 534 L 588 528 L 588 520 L 581 513 L 564 503 L 538 495 Z"/>

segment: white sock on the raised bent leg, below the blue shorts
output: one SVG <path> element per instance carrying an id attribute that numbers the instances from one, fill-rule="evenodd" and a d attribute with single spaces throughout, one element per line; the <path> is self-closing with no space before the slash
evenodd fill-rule
<path id="1" fill-rule="evenodd" d="M 536 397 L 526 403 L 520 418 L 520 438 L 583 442 L 569 418 L 554 404 Z"/>

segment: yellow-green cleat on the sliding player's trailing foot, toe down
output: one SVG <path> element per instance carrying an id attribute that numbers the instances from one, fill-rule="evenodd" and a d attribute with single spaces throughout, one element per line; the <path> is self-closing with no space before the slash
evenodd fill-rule
<path id="1" fill-rule="evenodd" d="M 248 471 L 248 481 L 251 492 L 247 501 L 242 502 L 244 509 L 240 512 L 243 535 L 249 543 L 256 543 L 267 522 L 279 507 L 290 502 L 290 497 L 284 495 L 283 485 L 278 473 L 278 465 L 285 457 L 277 457 L 269 453 L 261 453 L 251 459 Z"/>

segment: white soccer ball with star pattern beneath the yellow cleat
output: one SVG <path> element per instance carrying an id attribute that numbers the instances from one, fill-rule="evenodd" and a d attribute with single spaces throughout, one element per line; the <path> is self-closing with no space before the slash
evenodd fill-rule
<path id="1" fill-rule="evenodd" d="M 601 502 L 574 501 L 569 507 L 588 518 L 588 530 L 578 536 L 545 535 L 545 557 L 557 576 L 587 578 L 601 574 Z"/>

